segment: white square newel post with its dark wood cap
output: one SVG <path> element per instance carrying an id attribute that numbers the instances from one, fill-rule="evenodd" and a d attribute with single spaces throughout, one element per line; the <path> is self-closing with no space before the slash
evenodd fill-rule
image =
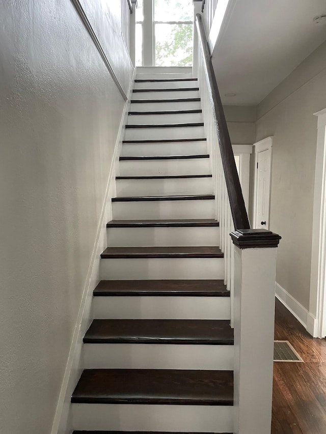
<path id="1" fill-rule="evenodd" d="M 276 250 L 265 229 L 235 230 L 234 409 L 236 434 L 270 434 Z"/>

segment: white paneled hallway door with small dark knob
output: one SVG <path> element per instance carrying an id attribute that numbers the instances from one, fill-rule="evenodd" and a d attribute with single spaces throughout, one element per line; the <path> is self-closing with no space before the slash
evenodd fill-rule
<path id="1" fill-rule="evenodd" d="M 256 225 L 269 228 L 270 149 L 257 153 L 256 159 Z"/>

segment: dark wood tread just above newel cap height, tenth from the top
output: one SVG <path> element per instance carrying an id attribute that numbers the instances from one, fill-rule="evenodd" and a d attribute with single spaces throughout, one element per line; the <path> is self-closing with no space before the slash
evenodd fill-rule
<path id="1" fill-rule="evenodd" d="M 171 219 L 171 220 L 111 220 L 106 227 L 211 227 L 219 226 L 214 219 Z"/>

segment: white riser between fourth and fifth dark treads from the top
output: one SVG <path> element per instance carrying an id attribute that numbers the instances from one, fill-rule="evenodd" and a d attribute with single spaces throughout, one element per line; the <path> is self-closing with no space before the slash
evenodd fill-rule
<path id="1" fill-rule="evenodd" d="M 186 124 L 203 122 L 202 113 L 129 114 L 128 125 Z"/>

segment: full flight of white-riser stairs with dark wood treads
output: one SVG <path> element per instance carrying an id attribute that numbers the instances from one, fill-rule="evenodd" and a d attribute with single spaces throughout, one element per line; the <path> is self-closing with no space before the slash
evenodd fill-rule
<path id="1" fill-rule="evenodd" d="M 187 69 L 138 69 L 116 185 L 73 432 L 233 432 L 230 297 Z"/>

